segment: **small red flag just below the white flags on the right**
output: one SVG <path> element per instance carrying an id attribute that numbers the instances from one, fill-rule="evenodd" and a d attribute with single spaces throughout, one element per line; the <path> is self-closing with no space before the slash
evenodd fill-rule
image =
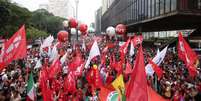
<path id="1" fill-rule="evenodd" d="M 160 67 L 158 67 L 158 65 L 155 64 L 151 59 L 149 59 L 149 64 L 151 64 L 151 67 L 158 76 L 158 79 L 161 79 L 161 77 L 163 76 L 163 70 Z"/>

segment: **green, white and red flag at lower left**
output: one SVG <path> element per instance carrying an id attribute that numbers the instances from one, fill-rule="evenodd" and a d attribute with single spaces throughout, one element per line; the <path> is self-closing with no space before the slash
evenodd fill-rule
<path id="1" fill-rule="evenodd" d="M 36 101 L 36 89 L 32 72 L 29 75 L 26 101 Z"/>

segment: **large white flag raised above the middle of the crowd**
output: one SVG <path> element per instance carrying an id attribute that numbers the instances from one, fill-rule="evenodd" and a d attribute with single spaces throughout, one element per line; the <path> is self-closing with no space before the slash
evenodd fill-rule
<path id="1" fill-rule="evenodd" d="M 89 57 L 88 57 L 88 60 L 85 64 L 85 68 L 88 68 L 90 62 L 91 62 L 91 59 L 93 59 L 94 57 L 100 55 L 100 50 L 98 48 L 98 43 L 96 41 L 94 41 L 92 47 L 91 47 L 91 50 L 90 50 L 90 53 L 89 53 Z"/>

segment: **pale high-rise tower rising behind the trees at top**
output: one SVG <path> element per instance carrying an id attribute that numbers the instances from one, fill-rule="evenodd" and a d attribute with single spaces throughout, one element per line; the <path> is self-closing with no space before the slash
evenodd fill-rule
<path id="1" fill-rule="evenodd" d="M 75 0 L 49 0 L 48 11 L 63 18 L 75 17 Z"/>

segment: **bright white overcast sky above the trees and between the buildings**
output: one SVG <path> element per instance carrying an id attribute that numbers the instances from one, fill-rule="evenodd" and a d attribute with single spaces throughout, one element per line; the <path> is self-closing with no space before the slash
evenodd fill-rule
<path id="1" fill-rule="evenodd" d="M 47 4 L 48 0 L 12 0 L 30 11 L 38 9 L 39 4 Z M 95 20 L 95 11 L 101 6 L 101 0 L 79 0 L 78 20 L 90 24 Z"/>

